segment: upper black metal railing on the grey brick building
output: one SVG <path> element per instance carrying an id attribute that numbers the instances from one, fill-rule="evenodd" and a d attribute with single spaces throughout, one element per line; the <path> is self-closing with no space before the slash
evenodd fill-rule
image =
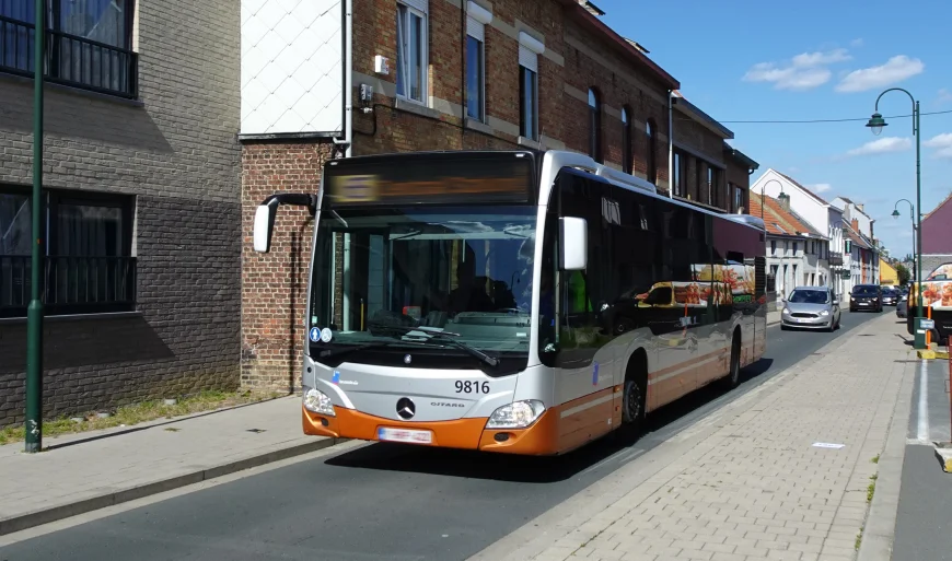
<path id="1" fill-rule="evenodd" d="M 34 25 L 0 15 L 0 71 L 33 77 Z M 135 100 L 139 96 L 136 52 L 77 35 L 47 30 L 46 80 Z"/>

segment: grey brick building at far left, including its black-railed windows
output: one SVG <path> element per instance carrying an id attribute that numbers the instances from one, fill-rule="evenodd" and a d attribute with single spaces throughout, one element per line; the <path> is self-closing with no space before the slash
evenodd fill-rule
<path id="1" fill-rule="evenodd" d="M 240 9 L 49 3 L 44 412 L 234 388 Z M 24 411 L 33 15 L 0 1 L 0 425 Z"/>

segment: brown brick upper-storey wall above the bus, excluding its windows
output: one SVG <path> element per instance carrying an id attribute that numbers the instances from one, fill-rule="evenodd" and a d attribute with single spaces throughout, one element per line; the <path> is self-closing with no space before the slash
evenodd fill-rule
<path id="1" fill-rule="evenodd" d="M 356 153 L 381 150 L 419 150 L 426 148 L 480 148 L 484 145 L 515 145 L 519 115 L 519 43 L 520 31 L 541 38 L 546 54 L 538 57 L 539 132 L 564 143 L 568 149 L 588 152 L 589 110 L 582 96 L 590 85 L 603 93 L 602 145 L 605 162 L 622 165 L 623 106 L 631 110 L 631 147 L 634 171 L 647 172 L 648 142 L 645 124 L 652 119 L 658 133 L 655 165 L 658 179 L 667 182 L 667 90 L 650 72 L 630 58 L 618 54 L 615 47 L 578 25 L 576 15 L 567 14 L 559 2 L 553 0 L 504 1 L 492 4 L 494 22 L 485 30 L 486 56 L 486 113 L 490 127 L 483 132 L 464 132 L 461 118 L 464 103 L 464 82 L 461 70 L 461 49 L 465 39 L 465 22 L 458 2 L 430 0 L 429 2 L 429 107 L 413 110 L 388 110 L 378 106 L 378 128 L 373 138 L 358 139 Z M 375 90 L 374 102 L 387 107 L 394 98 L 381 91 L 395 89 L 396 61 L 396 1 L 355 1 L 355 71 L 379 79 L 383 87 Z M 373 73 L 375 55 L 392 61 L 391 75 Z M 359 85 L 359 84 L 356 84 Z M 566 93 L 567 86 L 574 93 Z M 406 106 L 407 104 L 403 104 Z M 404 114 L 406 117 L 397 114 Z M 419 115 L 430 117 L 419 121 Z M 357 114 L 356 127 L 363 133 L 373 130 L 371 117 Z M 455 126 L 444 127 L 439 121 Z M 499 124 L 501 121 L 501 125 Z M 420 122 L 417 125 L 416 122 Z M 414 125 L 410 125 L 414 124 Z M 497 124 L 497 126 L 491 126 Z M 419 127 L 432 127 L 432 137 Z M 409 136 L 408 136 L 409 132 Z M 472 139 L 471 139 L 472 137 Z M 481 139 L 480 137 L 487 137 Z M 500 143 L 500 140 L 503 141 Z M 361 144 L 370 143 L 370 147 Z"/>

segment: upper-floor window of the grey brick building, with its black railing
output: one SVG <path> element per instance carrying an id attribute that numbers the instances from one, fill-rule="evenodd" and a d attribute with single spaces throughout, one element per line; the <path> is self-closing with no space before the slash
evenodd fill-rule
<path id="1" fill-rule="evenodd" d="M 136 97 L 132 0 L 46 0 L 47 80 Z M 33 75 L 33 2 L 0 0 L 0 70 Z"/>

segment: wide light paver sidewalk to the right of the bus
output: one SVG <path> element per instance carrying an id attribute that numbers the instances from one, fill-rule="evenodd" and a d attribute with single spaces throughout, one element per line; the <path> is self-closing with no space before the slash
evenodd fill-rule
<path id="1" fill-rule="evenodd" d="M 871 320 L 471 559 L 887 561 L 918 369 L 898 335 Z"/>

